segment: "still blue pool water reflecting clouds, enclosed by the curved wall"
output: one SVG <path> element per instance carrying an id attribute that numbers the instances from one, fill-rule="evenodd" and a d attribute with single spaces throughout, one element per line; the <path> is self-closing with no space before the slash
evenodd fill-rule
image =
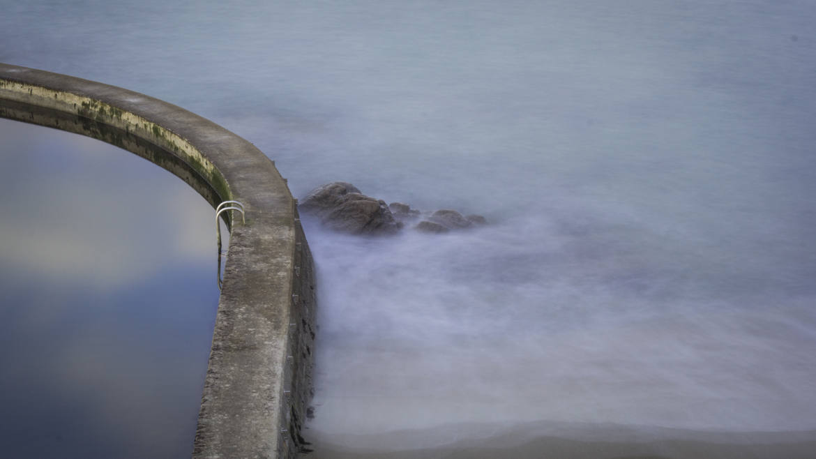
<path id="1" fill-rule="evenodd" d="M 218 304 L 212 208 L 98 140 L 0 119 L 4 457 L 188 457 Z"/>

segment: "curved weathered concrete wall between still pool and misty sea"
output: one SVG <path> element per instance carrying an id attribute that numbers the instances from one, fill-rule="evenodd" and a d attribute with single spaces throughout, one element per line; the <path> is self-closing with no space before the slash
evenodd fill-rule
<path id="1" fill-rule="evenodd" d="M 214 206 L 243 203 L 246 223 L 226 218 L 224 288 L 193 457 L 297 456 L 312 394 L 316 297 L 295 199 L 274 163 L 162 100 L 14 65 L 0 64 L 0 117 L 104 140 L 173 172 Z"/>

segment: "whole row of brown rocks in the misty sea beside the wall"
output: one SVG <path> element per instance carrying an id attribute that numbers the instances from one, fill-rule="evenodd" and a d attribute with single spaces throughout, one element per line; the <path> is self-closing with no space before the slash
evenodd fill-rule
<path id="1" fill-rule="evenodd" d="M 447 233 L 487 223 L 483 216 L 465 217 L 450 209 L 424 213 L 404 203 L 386 205 L 382 199 L 366 196 L 344 181 L 313 189 L 301 201 L 299 209 L 319 217 L 327 228 L 349 234 L 395 234 L 403 227 L 425 233 Z"/>

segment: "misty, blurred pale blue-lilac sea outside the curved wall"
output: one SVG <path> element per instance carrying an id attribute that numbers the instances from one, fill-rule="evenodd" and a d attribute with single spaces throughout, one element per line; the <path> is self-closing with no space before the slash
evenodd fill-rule
<path id="1" fill-rule="evenodd" d="M 316 457 L 548 435 L 816 440 L 813 2 L 4 11 L 0 61 L 210 118 L 295 197 L 345 180 L 490 221 L 381 239 L 306 228 Z"/>

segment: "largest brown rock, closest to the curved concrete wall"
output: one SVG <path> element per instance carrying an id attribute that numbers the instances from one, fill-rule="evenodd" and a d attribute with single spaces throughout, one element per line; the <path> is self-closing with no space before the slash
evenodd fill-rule
<path id="1" fill-rule="evenodd" d="M 393 234 L 400 229 L 384 201 L 336 181 L 313 189 L 300 203 L 304 213 L 320 217 L 332 230 L 351 234 Z"/>

